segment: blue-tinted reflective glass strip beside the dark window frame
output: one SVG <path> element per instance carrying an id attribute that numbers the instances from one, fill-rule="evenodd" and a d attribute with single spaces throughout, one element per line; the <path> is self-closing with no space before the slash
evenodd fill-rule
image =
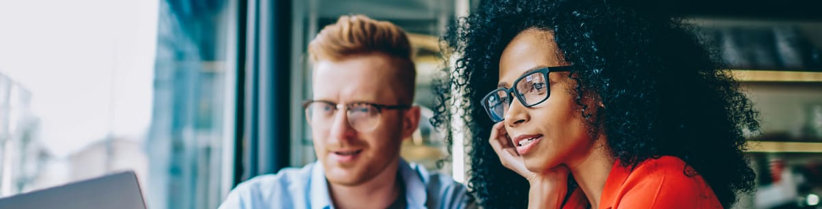
<path id="1" fill-rule="evenodd" d="M 222 199 L 224 113 L 229 81 L 226 1 L 163 1 L 154 113 L 145 152 L 151 208 L 216 208 Z M 227 83 L 229 82 L 229 83 Z"/>

